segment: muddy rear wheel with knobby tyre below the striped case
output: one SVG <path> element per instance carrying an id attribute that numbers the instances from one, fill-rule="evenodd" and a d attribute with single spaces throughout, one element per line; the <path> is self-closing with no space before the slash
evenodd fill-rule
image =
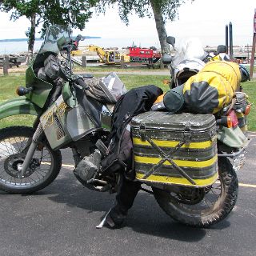
<path id="1" fill-rule="evenodd" d="M 207 227 L 226 218 L 238 198 L 238 178 L 228 158 L 218 159 L 218 181 L 203 189 L 167 192 L 154 188 L 154 197 L 166 214 L 189 226 Z"/>

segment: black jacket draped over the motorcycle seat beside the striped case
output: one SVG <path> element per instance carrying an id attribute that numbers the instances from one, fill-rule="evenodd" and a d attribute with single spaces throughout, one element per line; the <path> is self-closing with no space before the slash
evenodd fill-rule
<path id="1" fill-rule="evenodd" d="M 135 115 L 149 111 L 161 94 L 162 89 L 152 85 L 132 89 L 119 98 L 111 121 L 109 154 L 102 160 L 103 173 L 132 168 L 133 144 L 128 124 Z"/>

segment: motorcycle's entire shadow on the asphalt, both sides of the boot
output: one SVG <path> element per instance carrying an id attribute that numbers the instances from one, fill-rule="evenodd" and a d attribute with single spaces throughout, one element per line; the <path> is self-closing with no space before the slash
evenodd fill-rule
<path id="1" fill-rule="evenodd" d="M 38 192 L 46 194 L 45 192 Z M 104 212 L 113 205 L 115 194 L 99 193 L 84 188 L 70 174 L 54 181 L 48 198 L 54 202 L 64 203 L 66 206 L 79 207 L 91 212 Z M 100 221 L 100 220 L 98 220 Z M 135 199 L 134 206 L 130 209 L 123 228 L 131 228 L 135 232 L 150 234 L 162 238 L 171 238 L 179 241 L 198 242 L 206 235 L 205 229 L 193 228 L 182 225 L 172 220 L 158 206 L 151 194 L 140 192 Z M 223 221 L 213 227 L 222 230 L 230 226 L 230 222 Z"/>

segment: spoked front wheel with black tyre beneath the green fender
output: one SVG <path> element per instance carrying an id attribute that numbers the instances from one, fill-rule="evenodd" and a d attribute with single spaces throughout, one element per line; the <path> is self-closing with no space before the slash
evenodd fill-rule
<path id="1" fill-rule="evenodd" d="M 34 135 L 34 129 L 11 126 L 0 130 L 0 190 L 12 194 L 29 194 L 42 190 L 58 176 L 62 166 L 59 150 L 41 142 L 30 166 L 21 177 L 21 166 Z"/>

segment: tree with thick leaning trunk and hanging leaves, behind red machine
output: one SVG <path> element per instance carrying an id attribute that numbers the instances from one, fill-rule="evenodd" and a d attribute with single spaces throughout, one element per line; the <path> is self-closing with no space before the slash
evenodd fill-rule
<path id="1" fill-rule="evenodd" d="M 170 51 L 170 46 L 166 43 L 165 23 L 178 16 L 178 7 L 184 2 L 186 0 L 99 0 L 98 11 L 105 12 L 106 6 L 117 3 L 119 16 L 126 25 L 129 24 L 129 14 L 133 12 L 140 18 L 154 16 L 161 51 L 164 54 Z"/>

